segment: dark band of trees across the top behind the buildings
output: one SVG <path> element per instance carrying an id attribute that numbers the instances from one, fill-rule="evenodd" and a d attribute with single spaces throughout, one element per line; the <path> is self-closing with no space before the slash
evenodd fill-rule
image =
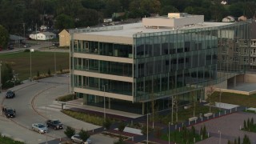
<path id="1" fill-rule="evenodd" d="M 60 30 L 94 26 L 117 12 L 125 12 L 123 18 L 186 12 L 204 14 L 206 21 L 220 21 L 227 15 L 245 14 L 254 18 L 256 2 L 230 0 L 227 5 L 222 5 L 221 0 L 0 0 L 0 24 L 12 34 L 23 34 L 24 27 L 34 30 L 36 24 Z M 42 17 L 43 14 L 54 18 Z"/>

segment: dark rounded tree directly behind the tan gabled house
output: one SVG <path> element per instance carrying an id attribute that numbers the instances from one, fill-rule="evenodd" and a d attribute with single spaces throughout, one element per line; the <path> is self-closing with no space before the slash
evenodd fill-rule
<path id="1" fill-rule="evenodd" d="M 74 19 L 66 14 L 60 14 L 56 18 L 55 28 L 59 30 L 74 28 Z"/>

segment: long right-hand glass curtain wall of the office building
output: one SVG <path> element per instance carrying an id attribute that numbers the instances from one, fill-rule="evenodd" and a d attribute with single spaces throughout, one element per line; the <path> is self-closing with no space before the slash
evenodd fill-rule
<path id="1" fill-rule="evenodd" d="M 227 78 L 225 74 L 218 77 L 217 70 L 230 75 L 241 73 L 249 54 L 246 50 L 250 47 L 245 40 L 249 38 L 249 25 L 241 22 L 214 28 L 134 34 L 135 101 L 170 97 Z M 238 63 L 233 64 L 237 37 L 239 51 L 244 54 L 236 54 Z M 222 56 L 219 50 L 228 53 Z M 228 59 L 222 61 L 220 58 Z"/>

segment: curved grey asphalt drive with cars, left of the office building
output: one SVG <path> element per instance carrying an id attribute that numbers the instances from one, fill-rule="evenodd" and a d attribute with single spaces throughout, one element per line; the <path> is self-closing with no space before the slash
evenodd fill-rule
<path id="1" fill-rule="evenodd" d="M 8 137 L 14 138 L 26 143 L 59 143 L 59 140 L 65 139 L 64 130 L 53 130 L 47 134 L 38 134 L 31 130 L 34 122 L 44 123 L 46 118 L 60 119 L 66 126 L 74 127 L 78 130 L 92 130 L 99 126 L 90 123 L 78 121 L 62 114 L 59 109 L 54 109 L 50 105 L 54 103 L 54 99 L 58 96 L 68 94 L 68 77 L 60 76 L 42 79 L 39 82 L 28 82 L 20 86 L 16 86 L 16 97 L 5 99 L 5 92 L 0 94 L 2 105 L 14 108 L 16 110 L 16 118 L 7 119 L 2 114 L 0 116 L 0 133 Z M 57 139 L 57 140 L 56 140 Z M 115 138 L 109 138 L 102 134 L 94 134 L 90 137 L 94 143 L 112 144 Z M 54 141 L 55 140 L 55 141 Z"/>

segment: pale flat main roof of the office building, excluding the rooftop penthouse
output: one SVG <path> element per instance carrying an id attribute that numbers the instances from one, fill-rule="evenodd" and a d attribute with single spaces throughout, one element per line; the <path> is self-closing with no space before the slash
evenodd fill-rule
<path id="1" fill-rule="evenodd" d="M 174 30 L 189 30 L 189 29 L 198 29 L 198 28 L 208 28 L 208 27 L 217 27 L 217 26 L 226 26 L 231 25 L 234 22 L 203 22 L 202 24 L 193 25 L 193 26 L 182 26 Z M 164 31 L 174 31 L 170 27 L 161 27 L 157 28 L 146 28 L 143 26 L 142 22 L 118 25 L 123 26 L 122 30 L 107 30 L 107 31 L 94 31 L 88 33 L 79 33 L 79 34 L 89 34 L 89 35 L 101 35 L 101 36 L 115 36 L 115 37 L 126 37 L 133 38 L 134 34 L 145 34 L 145 33 L 155 33 L 155 32 L 164 32 Z M 114 26 L 106 26 L 113 28 Z"/>

